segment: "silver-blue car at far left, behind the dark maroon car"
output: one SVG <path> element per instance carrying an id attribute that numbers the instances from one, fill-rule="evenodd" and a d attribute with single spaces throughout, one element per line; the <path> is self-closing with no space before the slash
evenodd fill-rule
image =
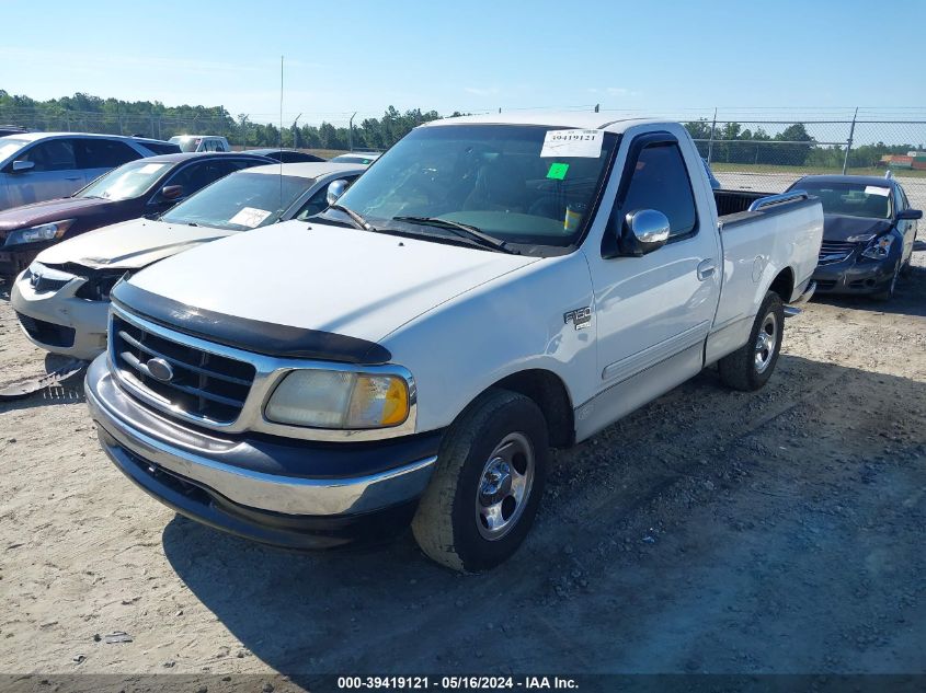
<path id="1" fill-rule="evenodd" d="M 175 145 L 117 135 L 23 132 L 0 137 L 0 210 L 67 197 L 107 171 Z"/>

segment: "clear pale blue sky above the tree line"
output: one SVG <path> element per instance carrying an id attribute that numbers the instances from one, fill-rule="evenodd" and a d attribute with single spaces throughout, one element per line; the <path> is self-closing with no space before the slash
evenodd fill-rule
<path id="1" fill-rule="evenodd" d="M 679 117 L 713 106 L 926 109 L 923 0 L 46 0 L 41 16 L 38 7 L 4 2 L 3 25 L 19 28 L 0 45 L 0 89 L 36 99 L 221 104 L 275 122 L 283 55 L 288 122 L 345 123 L 390 104 L 601 103 Z"/>

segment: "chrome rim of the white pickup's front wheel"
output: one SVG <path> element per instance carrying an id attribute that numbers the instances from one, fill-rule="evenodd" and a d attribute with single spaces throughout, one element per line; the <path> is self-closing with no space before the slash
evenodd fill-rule
<path id="1" fill-rule="evenodd" d="M 507 534 L 524 512 L 534 484 L 534 449 L 523 434 L 508 434 L 482 467 L 476 525 L 490 541 Z"/>

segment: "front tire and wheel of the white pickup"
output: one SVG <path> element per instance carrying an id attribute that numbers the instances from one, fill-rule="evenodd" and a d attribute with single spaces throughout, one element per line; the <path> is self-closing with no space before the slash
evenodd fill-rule
<path id="1" fill-rule="evenodd" d="M 507 390 L 481 395 L 441 443 L 412 520 L 421 550 L 462 573 L 506 561 L 534 523 L 549 457 L 547 420 L 533 400 Z"/>

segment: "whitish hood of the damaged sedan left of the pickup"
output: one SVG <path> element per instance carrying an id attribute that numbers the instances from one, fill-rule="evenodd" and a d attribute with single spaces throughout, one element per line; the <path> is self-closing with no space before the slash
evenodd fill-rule
<path id="1" fill-rule="evenodd" d="M 100 269 L 139 269 L 235 231 L 133 219 L 88 231 L 38 254 L 45 265 L 75 263 Z"/>

